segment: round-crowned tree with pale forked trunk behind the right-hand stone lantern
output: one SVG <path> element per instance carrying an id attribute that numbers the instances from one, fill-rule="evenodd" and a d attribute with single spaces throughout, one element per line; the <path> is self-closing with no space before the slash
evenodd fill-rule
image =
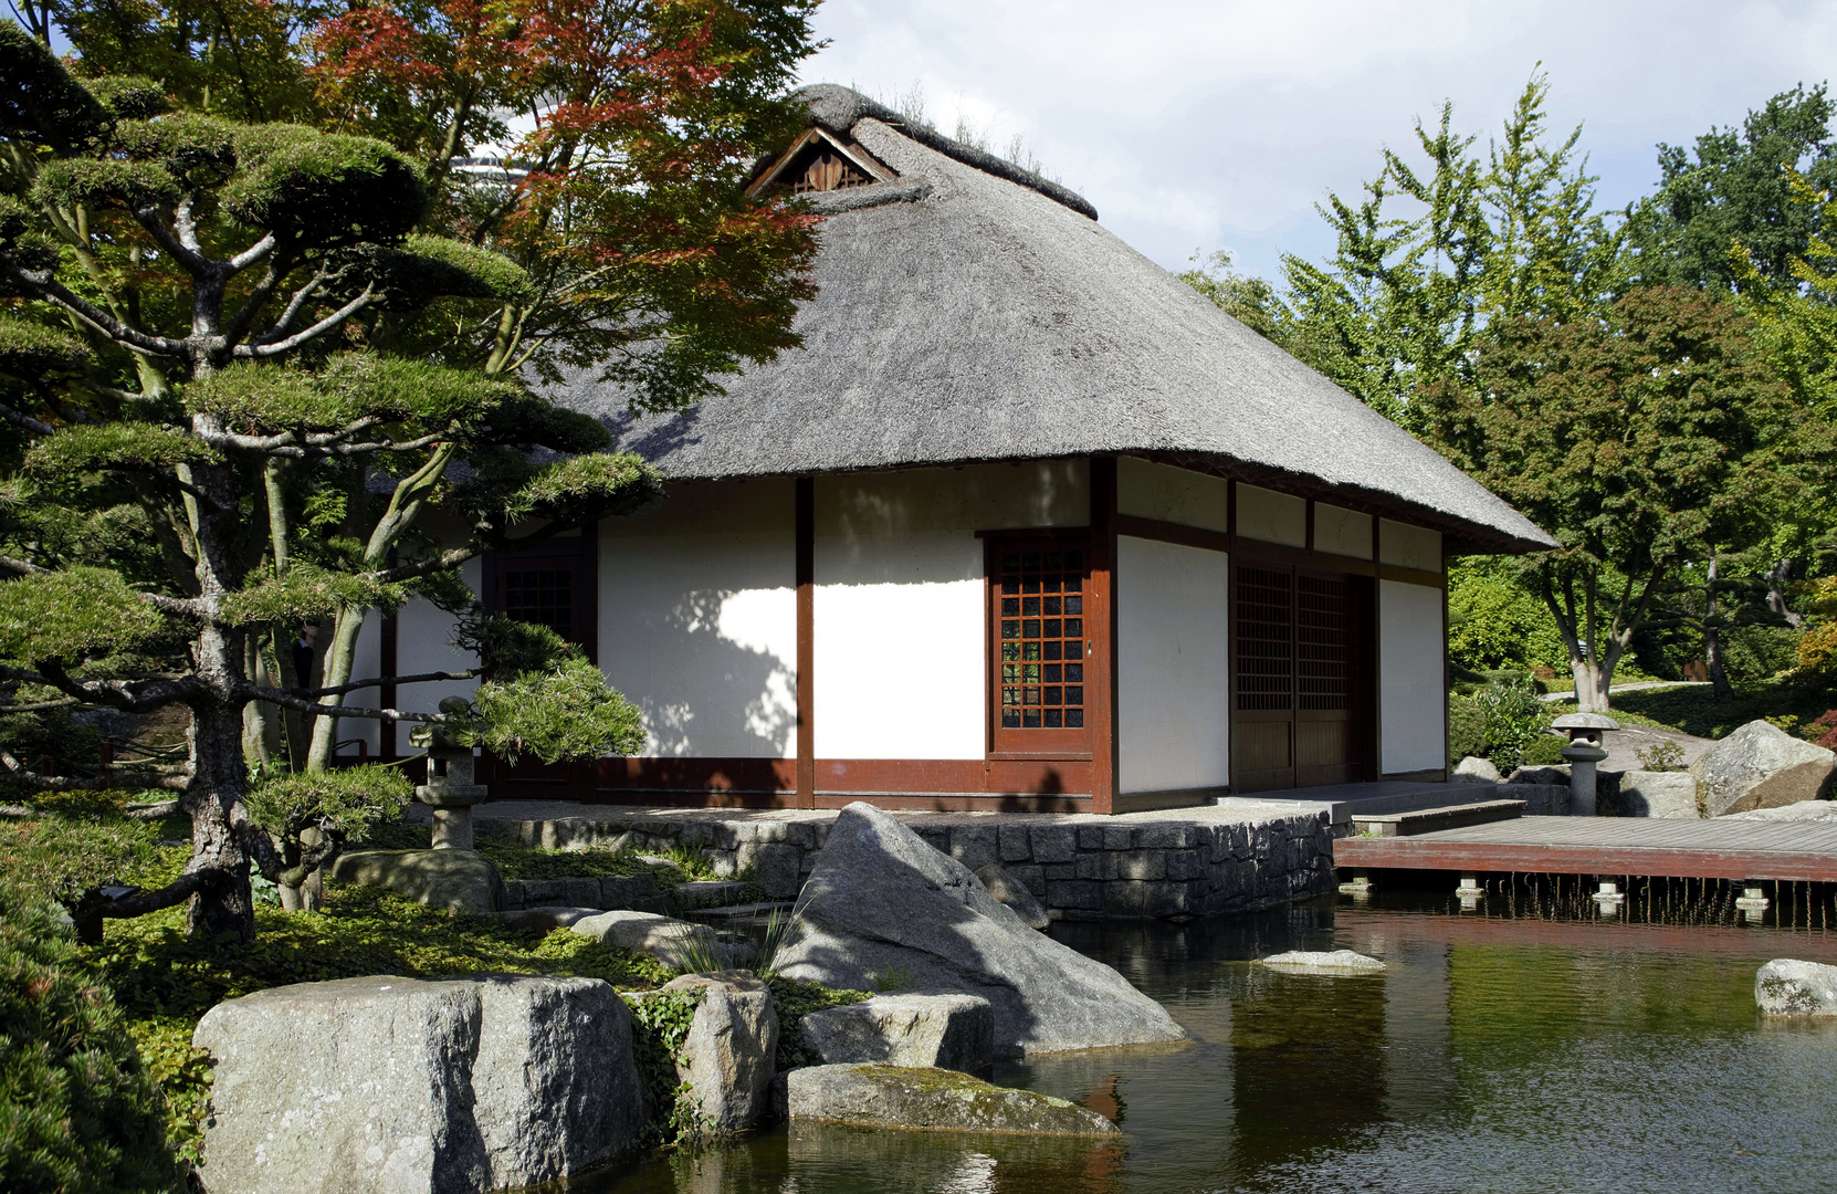
<path id="1" fill-rule="evenodd" d="M 1822 485 L 1831 461 L 1749 321 L 1697 290 L 1635 290 L 1606 320 L 1497 320 L 1475 380 L 1426 391 L 1426 430 L 1563 542 L 1527 558 L 1525 582 L 1587 711 L 1607 709 L 1668 579 L 1764 536 L 1767 511 Z"/>

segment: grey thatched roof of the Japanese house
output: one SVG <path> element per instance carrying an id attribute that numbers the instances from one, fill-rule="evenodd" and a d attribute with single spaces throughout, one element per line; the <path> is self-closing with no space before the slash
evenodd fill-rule
<path id="1" fill-rule="evenodd" d="M 828 191 L 803 347 L 678 415 L 557 395 L 667 478 L 1135 454 L 1440 527 L 1552 540 L 1437 452 L 1113 237 L 1076 195 L 840 86 L 812 121 L 898 178 Z"/>

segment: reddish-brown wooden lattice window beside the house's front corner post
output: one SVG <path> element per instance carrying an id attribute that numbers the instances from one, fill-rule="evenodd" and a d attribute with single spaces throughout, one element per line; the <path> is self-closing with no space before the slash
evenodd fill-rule
<path id="1" fill-rule="evenodd" d="M 1095 716 L 1086 538 L 990 540 L 988 599 L 996 749 L 1082 749 Z"/>

